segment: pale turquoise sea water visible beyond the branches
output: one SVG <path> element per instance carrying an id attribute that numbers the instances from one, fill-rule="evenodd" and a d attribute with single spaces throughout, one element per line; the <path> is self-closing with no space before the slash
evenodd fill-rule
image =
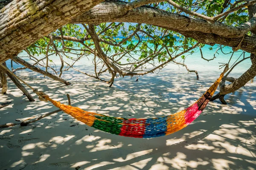
<path id="1" fill-rule="evenodd" d="M 209 50 L 209 47 L 212 47 L 212 50 Z M 215 58 L 211 61 L 206 61 L 204 59 L 201 58 L 201 53 L 199 51 L 199 49 L 195 50 L 195 53 L 193 53 L 192 55 L 188 55 L 188 54 L 184 54 L 186 56 L 185 59 L 182 59 L 181 57 L 178 57 L 176 59 L 177 62 L 182 62 L 184 64 L 186 64 L 188 66 L 188 68 L 190 70 L 196 70 L 198 71 L 199 74 L 209 74 L 211 72 L 215 72 L 216 74 L 219 74 L 223 71 L 223 69 L 219 69 L 220 65 L 223 65 L 222 63 L 228 63 L 230 60 L 230 57 L 232 55 L 232 48 L 230 47 L 224 47 L 223 48 L 223 53 L 221 53 L 221 51 L 219 50 L 217 53 L 215 53 L 216 49 L 218 48 L 217 45 L 215 46 L 209 46 L 209 45 L 205 45 L 202 48 L 202 53 L 203 53 L 203 57 L 206 59 L 212 59 L 214 57 L 215 54 Z M 19 56 L 27 56 L 26 53 L 21 53 L 19 54 Z M 134 54 L 134 58 L 138 58 L 140 56 L 139 53 Z M 41 57 L 44 56 L 38 56 L 37 58 L 40 59 Z M 70 57 L 72 57 L 72 55 L 70 55 Z M 234 52 L 233 57 L 230 60 L 230 67 L 235 64 L 236 62 L 240 61 L 241 59 L 243 59 L 244 57 L 250 57 L 249 53 L 243 53 L 242 51 L 237 51 Z M 24 60 L 29 61 L 29 59 L 27 57 L 23 58 Z M 58 70 L 60 68 L 60 59 L 58 56 L 52 55 L 49 57 L 49 59 L 51 59 L 53 63 L 50 63 L 50 65 L 53 68 L 56 68 L 56 70 Z M 63 57 L 63 59 L 68 62 L 71 63 L 72 61 L 70 59 L 67 59 L 67 57 Z M 125 62 L 126 58 L 120 60 L 121 62 Z M 9 68 L 11 68 L 11 61 L 8 60 L 6 61 L 6 64 Z M 44 63 L 42 63 L 44 64 Z M 242 61 L 241 63 L 239 63 L 235 69 L 233 69 L 233 71 L 230 73 L 230 76 L 234 76 L 234 77 L 239 77 L 241 74 L 244 73 L 244 71 L 246 71 L 248 68 L 250 68 L 251 65 L 251 61 L 250 59 L 246 59 L 244 61 Z M 16 64 L 15 62 L 13 62 L 13 67 L 14 68 L 20 68 L 23 67 L 20 64 Z M 38 65 L 39 68 L 42 68 L 40 65 Z M 80 71 L 84 71 L 86 73 L 94 73 L 94 65 L 93 65 L 93 56 L 89 56 L 89 57 L 84 57 L 82 59 L 80 59 L 78 62 L 76 62 L 76 64 L 74 65 L 75 68 L 79 69 Z M 64 67 L 65 68 L 65 67 Z M 45 69 L 45 68 L 42 68 Z M 70 68 L 71 69 L 71 68 Z M 180 73 L 186 73 L 186 69 L 180 65 L 175 65 L 173 63 L 169 63 L 168 65 L 165 66 L 165 68 L 163 68 L 162 70 L 160 70 L 159 72 L 156 71 L 156 73 L 161 74 L 162 71 L 177 71 Z M 49 72 L 51 72 L 52 74 L 54 74 L 54 72 L 52 70 L 49 69 Z M 193 74 L 193 73 L 191 73 Z"/>

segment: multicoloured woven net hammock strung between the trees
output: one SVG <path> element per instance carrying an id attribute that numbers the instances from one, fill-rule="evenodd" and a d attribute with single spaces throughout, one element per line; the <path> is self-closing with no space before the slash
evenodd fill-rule
<path id="1" fill-rule="evenodd" d="M 5 66 L 2 65 L 2 67 Z M 183 111 L 158 118 L 126 119 L 88 112 L 77 107 L 61 104 L 60 102 L 50 99 L 47 94 L 44 94 L 44 92 L 37 91 L 37 89 L 32 88 L 5 67 L 5 69 L 13 74 L 17 79 L 20 79 L 20 81 L 31 88 L 39 96 L 40 100 L 52 102 L 52 104 L 57 108 L 60 108 L 65 113 L 90 127 L 115 135 L 134 138 L 154 138 L 169 135 L 183 129 L 193 122 L 207 106 L 227 68 L 228 66 L 226 66 L 224 72 L 221 73 L 220 77 L 214 82 L 214 84 L 194 104 Z"/>

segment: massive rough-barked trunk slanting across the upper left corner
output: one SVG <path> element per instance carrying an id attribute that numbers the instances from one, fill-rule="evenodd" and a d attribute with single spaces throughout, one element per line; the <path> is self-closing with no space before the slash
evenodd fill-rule
<path id="1" fill-rule="evenodd" d="M 103 0 L 13 0 L 0 9 L 0 63 Z"/>

